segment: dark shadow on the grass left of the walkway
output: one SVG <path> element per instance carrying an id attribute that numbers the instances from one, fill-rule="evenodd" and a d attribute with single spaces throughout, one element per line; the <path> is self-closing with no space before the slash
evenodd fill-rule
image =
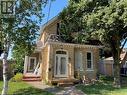
<path id="1" fill-rule="evenodd" d="M 36 89 L 33 87 L 25 88 L 25 89 L 20 89 L 16 92 L 14 92 L 13 95 L 53 95 L 47 91 L 41 90 L 41 89 Z"/>

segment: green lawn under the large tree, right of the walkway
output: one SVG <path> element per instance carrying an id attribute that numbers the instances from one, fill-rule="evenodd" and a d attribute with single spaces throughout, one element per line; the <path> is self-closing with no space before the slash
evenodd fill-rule
<path id="1" fill-rule="evenodd" d="M 87 95 L 127 95 L 127 87 L 114 88 L 111 83 L 96 83 L 93 85 L 77 85 Z"/>

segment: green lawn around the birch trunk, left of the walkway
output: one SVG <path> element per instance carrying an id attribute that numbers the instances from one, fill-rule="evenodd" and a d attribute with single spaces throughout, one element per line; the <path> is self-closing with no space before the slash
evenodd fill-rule
<path id="1" fill-rule="evenodd" d="M 0 81 L 0 93 L 3 82 Z M 53 95 L 41 89 L 36 89 L 24 82 L 9 82 L 8 94 L 13 95 Z"/>

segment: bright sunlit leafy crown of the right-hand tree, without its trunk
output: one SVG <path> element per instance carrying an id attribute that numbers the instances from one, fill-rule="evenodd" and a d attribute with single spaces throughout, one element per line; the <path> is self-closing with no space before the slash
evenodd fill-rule
<path id="1" fill-rule="evenodd" d="M 88 15 L 87 25 L 94 31 L 94 36 L 101 36 L 100 40 L 103 42 L 123 41 L 126 33 L 126 1 L 111 1 L 109 6 L 100 7 L 99 10 Z M 114 35 L 115 34 L 115 35 Z M 116 42 L 114 42 L 115 44 Z M 120 43 L 120 42 L 119 42 Z M 121 43 L 120 43 L 121 45 Z"/>

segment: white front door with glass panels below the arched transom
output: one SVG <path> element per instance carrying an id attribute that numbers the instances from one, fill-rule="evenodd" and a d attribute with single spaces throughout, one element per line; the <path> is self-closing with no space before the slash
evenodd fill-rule
<path id="1" fill-rule="evenodd" d="M 56 54 L 55 56 L 55 77 L 67 77 L 67 55 Z"/>

